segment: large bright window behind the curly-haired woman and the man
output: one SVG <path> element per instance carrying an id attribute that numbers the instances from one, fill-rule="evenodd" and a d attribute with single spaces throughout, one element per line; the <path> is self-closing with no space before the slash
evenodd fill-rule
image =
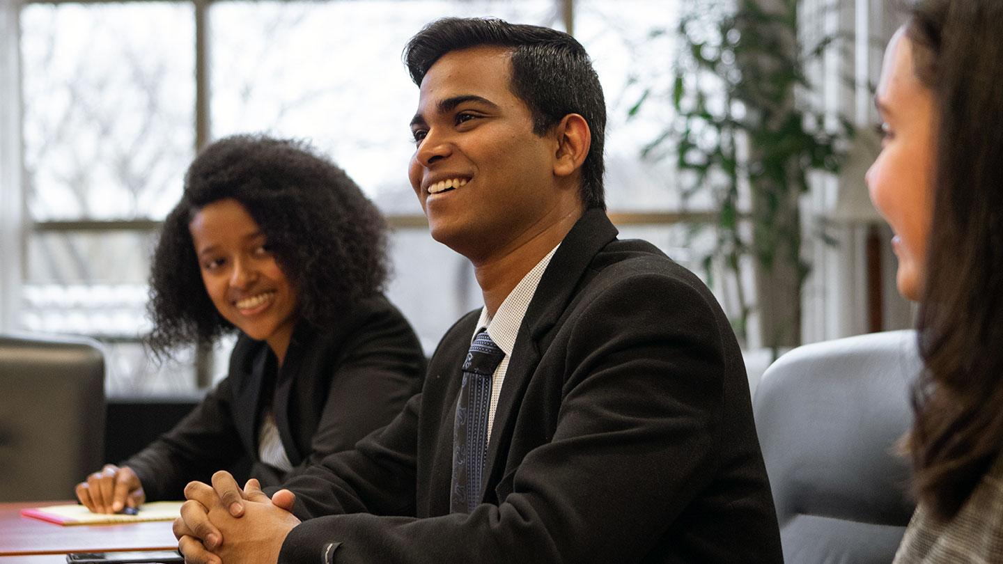
<path id="1" fill-rule="evenodd" d="M 0 0 L 4 1 L 4 0 Z M 683 264 L 698 255 L 674 171 L 640 159 L 668 100 L 628 119 L 641 86 L 668 91 L 674 3 L 663 0 L 216 0 L 27 3 L 20 23 L 25 236 L 19 314 L 29 330 L 96 336 L 108 392 L 183 392 L 209 382 L 196 354 L 158 366 L 138 344 L 148 255 L 199 143 L 268 131 L 310 139 L 387 214 L 390 299 L 430 353 L 480 305 L 472 269 L 428 237 L 406 178 L 416 89 L 404 41 L 437 17 L 492 15 L 573 27 L 593 55 L 609 112 L 607 199 L 623 236 Z M 432 267 L 433 265 L 433 267 Z M 429 289 L 434 290 L 429 290 Z M 225 369 L 224 343 L 202 372 Z"/>

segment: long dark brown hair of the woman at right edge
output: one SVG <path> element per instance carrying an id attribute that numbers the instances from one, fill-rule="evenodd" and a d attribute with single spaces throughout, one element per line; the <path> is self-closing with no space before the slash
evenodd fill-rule
<path id="1" fill-rule="evenodd" d="M 1003 450 L 1003 2 L 927 0 L 911 12 L 937 157 L 919 315 L 926 368 L 907 446 L 920 500 L 949 519 Z"/>

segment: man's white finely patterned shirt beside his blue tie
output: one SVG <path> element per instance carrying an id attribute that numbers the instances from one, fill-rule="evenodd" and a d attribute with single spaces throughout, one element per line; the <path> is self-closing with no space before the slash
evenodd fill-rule
<path id="1" fill-rule="evenodd" d="M 558 247 L 560 246 L 558 244 Z M 534 294 L 537 293 L 537 286 L 540 285 L 540 279 L 543 277 L 544 271 L 547 270 L 547 265 L 551 264 L 551 259 L 554 257 L 554 253 L 558 250 L 558 247 L 551 249 L 551 252 L 547 253 L 547 256 L 541 259 L 537 263 L 537 266 L 526 273 L 526 276 L 520 280 L 519 284 L 513 288 L 505 301 L 501 302 L 497 311 L 494 312 L 493 317 L 487 315 L 487 308 L 480 308 L 480 318 L 477 320 L 477 327 L 474 329 L 473 335 L 470 335 L 470 342 L 472 343 L 473 337 L 481 329 L 486 328 L 487 335 L 505 352 L 505 357 L 501 358 L 501 362 L 498 363 L 497 368 L 494 368 L 494 373 L 491 375 L 491 399 L 490 406 L 487 409 L 488 438 L 490 438 L 491 429 L 494 426 L 494 411 L 498 406 L 501 383 L 505 382 L 505 374 L 509 370 L 509 358 L 512 356 L 512 349 L 516 345 L 519 327 L 523 324 L 523 318 L 526 317 L 526 310 L 530 307 L 530 301 L 533 300 Z"/>

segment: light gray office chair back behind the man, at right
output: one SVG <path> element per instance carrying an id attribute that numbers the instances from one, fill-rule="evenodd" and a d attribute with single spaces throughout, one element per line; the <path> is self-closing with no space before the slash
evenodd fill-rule
<path id="1" fill-rule="evenodd" d="M 922 367 L 914 331 L 798 347 L 763 374 L 753 410 L 787 564 L 892 561 L 915 502 L 894 454 Z"/>

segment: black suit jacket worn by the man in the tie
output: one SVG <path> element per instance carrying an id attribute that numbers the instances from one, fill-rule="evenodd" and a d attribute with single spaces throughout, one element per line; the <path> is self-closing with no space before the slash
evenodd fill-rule
<path id="1" fill-rule="evenodd" d="M 781 562 L 742 357 L 690 272 L 586 212 L 555 253 L 498 398 L 483 503 L 449 514 L 477 312 L 389 426 L 286 483 L 280 562 Z M 344 515 L 353 514 L 353 515 Z"/>

